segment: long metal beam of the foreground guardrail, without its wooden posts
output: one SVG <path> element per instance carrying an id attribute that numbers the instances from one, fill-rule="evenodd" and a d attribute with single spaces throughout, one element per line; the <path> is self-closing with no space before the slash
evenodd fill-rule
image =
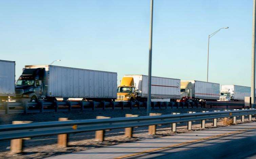
<path id="1" fill-rule="evenodd" d="M 256 109 L 219 111 L 161 116 L 121 117 L 110 119 L 87 119 L 70 121 L 38 122 L 28 124 L 8 124 L 0 126 L 0 140 L 19 139 L 36 136 L 80 133 L 87 131 L 121 129 L 149 125 L 205 120 L 256 114 Z"/>

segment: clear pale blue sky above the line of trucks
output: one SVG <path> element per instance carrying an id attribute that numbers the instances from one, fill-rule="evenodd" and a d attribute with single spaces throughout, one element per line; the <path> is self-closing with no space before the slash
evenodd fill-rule
<path id="1" fill-rule="evenodd" d="M 250 86 L 252 0 L 155 0 L 152 75 Z M 1 0 L 1 60 L 148 73 L 150 0 Z"/>

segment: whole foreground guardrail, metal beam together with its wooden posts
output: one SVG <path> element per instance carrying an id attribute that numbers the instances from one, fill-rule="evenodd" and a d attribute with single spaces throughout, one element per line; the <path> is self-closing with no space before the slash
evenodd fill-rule
<path id="1" fill-rule="evenodd" d="M 68 121 L 52 121 L 29 123 L 30 121 L 16 121 L 22 124 L 8 124 L 0 126 L 0 140 L 11 141 L 11 152 L 22 152 L 22 139 L 30 139 L 30 137 L 59 135 L 58 146 L 64 147 L 67 145 L 68 135 L 71 133 L 81 133 L 88 131 L 96 131 L 96 139 L 104 140 L 104 130 L 125 128 L 125 136 L 132 136 L 133 127 L 149 126 L 149 133 L 155 134 L 156 125 L 172 124 L 172 131 L 176 131 L 177 122 L 188 122 L 188 130 L 192 129 L 192 122 L 201 120 L 201 127 L 205 128 L 205 120 L 213 119 L 213 126 L 217 126 L 217 118 L 233 117 L 233 123 L 236 123 L 236 117 L 241 116 L 241 121 L 244 121 L 244 116 L 248 115 L 249 120 L 252 120 L 252 114 L 256 114 L 256 109 L 243 109 L 234 111 L 215 111 L 188 114 L 172 114 L 161 115 L 152 113 L 152 116 L 139 116 L 129 114 L 121 118 L 109 118 L 99 116 L 99 119 L 87 120 L 68 120 Z M 62 118 L 62 120 L 67 118 Z M 174 124 L 175 123 L 175 124 Z M 128 129 L 129 128 L 129 129 Z M 12 145 L 13 144 L 13 145 Z M 15 145 L 15 146 L 14 146 Z"/>

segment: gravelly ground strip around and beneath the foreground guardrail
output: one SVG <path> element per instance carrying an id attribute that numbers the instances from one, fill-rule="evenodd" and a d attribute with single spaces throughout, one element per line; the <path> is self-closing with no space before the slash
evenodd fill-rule
<path id="1" fill-rule="evenodd" d="M 175 113 L 187 113 L 188 111 L 201 112 L 201 111 L 213 111 L 209 108 L 184 108 L 184 109 L 153 109 L 154 113 L 171 114 Z M 214 109 L 223 110 L 223 109 Z M 11 124 L 15 120 L 33 121 L 33 122 L 46 122 L 57 121 L 60 117 L 70 118 L 72 120 L 78 119 L 95 119 L 96 116 L 109 116 L 109 117 L 124 117 L 125 114 L 139 114 L 140 116 L 146 115 L 145 109 L 124 109 L 124 110 L 85 110 L 85 111 L 72 111 L 72 112 L 47 112 L 47 113 L 28 113 L 28 114 L 1 114 L 0 124 Z M 238 119 L 238 118 L 237 118 Z M 223 126 L 221 120 L 219 120 L 218 126 Z M 206 121 L 206 128 L 212 127 L 212 121 Z M 238 120 L 237 120 L 238 122 Z M 200 128 L 200 121 L 193 122 L 193 130 L 202 130 Z M 148 135 L 148 127 L 139 127 L 134 129 L 133 138 L 123 137 L 124 129 L 116 129 L 106 131 L 105 141 L 95 141 L 95 132 L 70 134 L 69 145 L 66 148 L 57 147 L 57 136 L 44 136 L 34 137 L 31 140 L 24 140 L 24 153 L 19 155 L 9 154 L 10 141 L 0 142 L 0 158 L 44 158 L 49 156 L 55 156 L 60 154 L 72 153 L 77 151 L 83 151 L 87 149 L 93 149 L 102 146 L 115 145 L 124 142 L 133 142 L 137 140 L 144 140 L 147 138 L 156 138 L 166 135 L 174 135 L 178 133 L 189 132 L 186 130 L 186 123 L 177 124 L 177 132 L 173 133 L 170 128 L 170 124 L 164 124 L 158 126 L 157 135 Z"/>

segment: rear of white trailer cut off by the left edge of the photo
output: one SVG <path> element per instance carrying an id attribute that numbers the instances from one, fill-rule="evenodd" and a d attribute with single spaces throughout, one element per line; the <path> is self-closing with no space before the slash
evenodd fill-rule
<path id="1" fill-rule="evenodd" d="M 15 61 L 0 60 L 0 101 L 15 96 Z"/>

